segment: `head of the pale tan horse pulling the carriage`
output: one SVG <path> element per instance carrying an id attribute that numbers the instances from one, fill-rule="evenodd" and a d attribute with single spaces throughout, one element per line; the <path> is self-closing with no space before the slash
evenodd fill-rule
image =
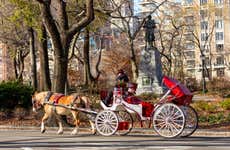
<path id="1" fill-rule="evenodd" d="M 32 95 L 33 111 L 37 112 L 42 108 L 47 92 L 35 92 Z"/>

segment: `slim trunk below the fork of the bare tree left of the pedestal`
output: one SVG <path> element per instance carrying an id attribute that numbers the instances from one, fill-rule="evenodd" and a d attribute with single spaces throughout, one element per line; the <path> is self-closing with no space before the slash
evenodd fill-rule
<path id="1" fill-rule="evenodd" d="M 138 78 L 138 66 L 137 66 L 133 40 L 130 41 L 130 48 L 131 48 L 131 66 L 132 66 L 132 73 L 133 73 L 133 81 L 135 82 Z"/>

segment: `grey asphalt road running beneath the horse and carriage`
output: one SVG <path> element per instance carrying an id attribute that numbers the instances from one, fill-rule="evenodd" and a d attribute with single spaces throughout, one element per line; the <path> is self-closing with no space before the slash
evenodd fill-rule
<path id="1" fill-rule="evenodd" d="M 36 130 L 0 130 L 0 149 L 4 150 L 229 150 L 230 137 L 191 136 L 165 139 L 156 135 L 131 133 L 127 136 L 104 137 L 79 133 L 57 135 L 56 131 L 41 134 Z"/>

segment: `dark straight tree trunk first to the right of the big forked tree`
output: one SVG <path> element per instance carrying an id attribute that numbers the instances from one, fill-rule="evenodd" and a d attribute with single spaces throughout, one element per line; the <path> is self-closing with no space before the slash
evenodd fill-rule
<path id="1" fill-rule="evenodd" d="M 93 82 L 93 76 L 90 71 L 90 58 L 89 58 L 89 30 L 85 29 L 85 34 L 84 34 L 84 52 L 83 52 L 83 57 L 84 57 L 84 84 L 89 85 Z"/>

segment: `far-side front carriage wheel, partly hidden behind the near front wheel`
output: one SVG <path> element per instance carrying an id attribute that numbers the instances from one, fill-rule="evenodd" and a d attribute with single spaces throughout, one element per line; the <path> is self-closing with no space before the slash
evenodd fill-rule
<path id="1" fill-rule="evenodd" d="M 131 114 L 127 111 L 117 111 L 116 114 L 119 120 L 116 133 L 118 135 L 128 134 L 133 128 L 133 118 Z"/>

